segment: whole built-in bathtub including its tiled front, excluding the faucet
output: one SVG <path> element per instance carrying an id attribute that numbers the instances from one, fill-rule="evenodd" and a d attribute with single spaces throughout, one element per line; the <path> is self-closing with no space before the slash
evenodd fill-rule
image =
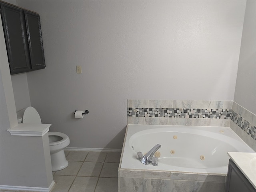
<path id="1" fill-rule="evenodd" d="M 156 144 L 162 146 L 158 150 L 158 166 L 144 165 L 136 159 L 138 151 L 145 154 Z M 224 191 L 230 159 L 227 152 L 254 151 L 229 127 L 127 125 L 118 170 L 118 189 L 150 191 L 154 188 L 153 179 L 168 182 L 160 186 L 170 187 L 186 182 L 185 188 L 178 191 L 191 191 L 191 187 L 200 184 L 206 191 L 211 191 L 207 184 L 210 188 L 214 186 L 215 191 Z M 138 184 L 138 181 L 142 183 Z M 142 190 L 134 190 L 143 184 Z"/>

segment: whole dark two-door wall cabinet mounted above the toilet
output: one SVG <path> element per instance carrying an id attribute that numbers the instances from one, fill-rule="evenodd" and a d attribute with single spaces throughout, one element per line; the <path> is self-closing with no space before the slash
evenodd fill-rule
<path id="1" fill-rule="evenodd" d="M 1 17 L 11 74 L 44 69 L 39 15 L 1 1 Z"/>

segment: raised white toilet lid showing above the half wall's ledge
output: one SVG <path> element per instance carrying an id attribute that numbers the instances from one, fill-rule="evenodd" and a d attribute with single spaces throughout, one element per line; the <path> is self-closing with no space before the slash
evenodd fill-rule
<path id="1" fill-rule="evenodd" d="M 41 118 L 33 107 L 26 108 L 24 115 L 23 115 L 23 123 L 34 123 L 34 124 L 41 124 Z"/>

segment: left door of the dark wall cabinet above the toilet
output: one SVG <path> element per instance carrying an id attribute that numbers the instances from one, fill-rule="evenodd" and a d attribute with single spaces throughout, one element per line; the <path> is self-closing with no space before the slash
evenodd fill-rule
<path id="1" fill-rule="evenodd" d="M 2 24 L 11 74 L 30 69 L 23 10 L 1 2 Z"/>

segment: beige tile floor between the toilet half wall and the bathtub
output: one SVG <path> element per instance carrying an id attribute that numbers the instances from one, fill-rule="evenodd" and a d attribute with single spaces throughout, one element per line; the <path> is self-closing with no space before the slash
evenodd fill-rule
<path id="1" fill-rule="evenodd" d="M 65 151 L 65 155 L 69 165 L 52 172 L 56 184 L 51 192 L 118 191 L 121 152 Z"/>

